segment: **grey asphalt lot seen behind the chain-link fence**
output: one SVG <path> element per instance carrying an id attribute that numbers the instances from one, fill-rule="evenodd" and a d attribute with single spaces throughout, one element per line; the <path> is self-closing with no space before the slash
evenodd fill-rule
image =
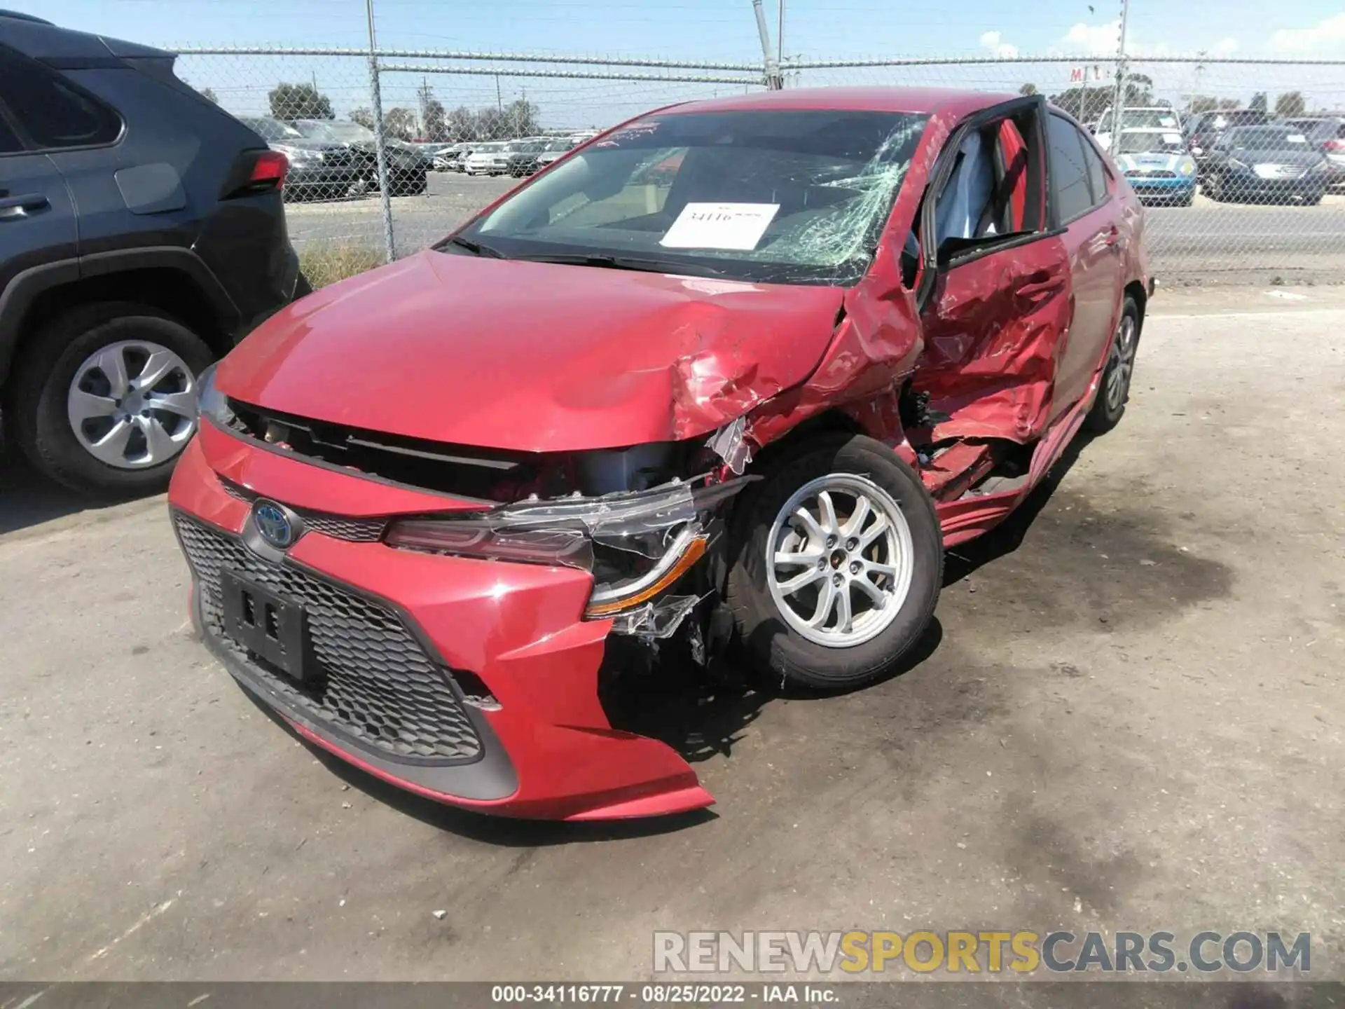
<path id="1" fill-rule="evenodd" d="M 398 252 L 421 249 L 518 184 L 507 176 L 433 172 L 421 196 L 393 198 Z M 377 195 L 325 203 L 291 203 L 289 234 L 299 246 L 381 246 Z M 1215 203 L 1150 207 L 1149 254 L 1169 285 L 1323 284 L 1345 281 L 1345 195 L 1317 207 Z"/>

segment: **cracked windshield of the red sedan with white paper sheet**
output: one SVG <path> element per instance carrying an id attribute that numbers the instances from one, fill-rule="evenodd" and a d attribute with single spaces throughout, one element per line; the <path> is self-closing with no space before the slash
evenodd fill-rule
<path id="1" fill-rule="evenodd" d="M 853 284 L 925 121 L 841 109 L 651 116 L 538 176 L 441 250 Z"/>

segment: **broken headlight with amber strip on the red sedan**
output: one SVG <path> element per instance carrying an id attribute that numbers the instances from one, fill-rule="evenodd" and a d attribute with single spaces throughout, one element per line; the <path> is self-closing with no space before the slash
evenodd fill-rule
<path id="1" fill-rule="evenodd" d="M 713 513 L 753 479 L 526 500 L 464 518 L 406 518 L 393 522 L 383 539 L 408 550 L 592 572 L 584 616 L 600 620 L 647 605 L 690 570 L 710 544 Z"/>

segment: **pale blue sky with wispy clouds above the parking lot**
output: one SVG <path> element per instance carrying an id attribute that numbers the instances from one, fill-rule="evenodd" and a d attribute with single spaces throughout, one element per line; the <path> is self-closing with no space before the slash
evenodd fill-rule
<path id="1" fill-rule="evenodd" d="M 9 0 L 58 24 L 175 46 L 363 46 L 363 0 Z M 764 0 L 772 35 L 776 0 Z M 1038 0 L 911 3 L 911 0 L 787 0 L 784 52 L 804 58 L 1073 55 L 1115 51 L 1119 4 Z M 760 58 L 751 0 L 375 0 L 385 47 L 601 54 L 671 59 Z M 1205 51 L 1237 57 L 1345 59 L 1345 0 L 1280 0 L 1274 5 L 1220 0 L 1132 0 L 1131 51 Z M 184 58 L 180 73 L 210 86 L 234 112 L 261 112 L 277 79 L 316 78 L 338 112 L 367 104 L 358 61 Z M 1252 90 L 1299 89 L 1315 104 L 1345 106 L 1345 66 L 1284 70 L 1210 65 L 1151 65 L 1161 93 L 1180 100 L 1197 87 L 1248 98 Z M 1041 90 L 1065 86 L 1068 67 L 939 66 L 902 71 L 837 70 L 800 83 L 944 83 Z M 494 104 L 492 75 L 430 78 L 447 105 Z M 413 104 L 420 78 L 385 81 L 385 105 Z M 638 85 L 537 81 L 502 74 L 503 101 L 527 94 L 551 125 L 588 125 L 682 97 L 722 93 L 726 85 Z"/>

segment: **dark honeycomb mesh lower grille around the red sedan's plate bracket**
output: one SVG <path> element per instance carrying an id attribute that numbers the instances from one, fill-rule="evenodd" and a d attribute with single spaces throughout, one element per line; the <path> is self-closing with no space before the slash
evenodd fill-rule
<path id="1" fill-rule="evenodd" d="M 286 702 L 339 732 L 394 757 L 467 763 L 482 741 L 449 686 L 401 618 L 387 607 L 300 568 L 272 564 L 235 537 L 174 515 L 196 576 L 200 613 L 217 638 Z M 276 671 L 225 634 L 221 570 L 231 570 L 304 608 L 316 686 Z"/>

